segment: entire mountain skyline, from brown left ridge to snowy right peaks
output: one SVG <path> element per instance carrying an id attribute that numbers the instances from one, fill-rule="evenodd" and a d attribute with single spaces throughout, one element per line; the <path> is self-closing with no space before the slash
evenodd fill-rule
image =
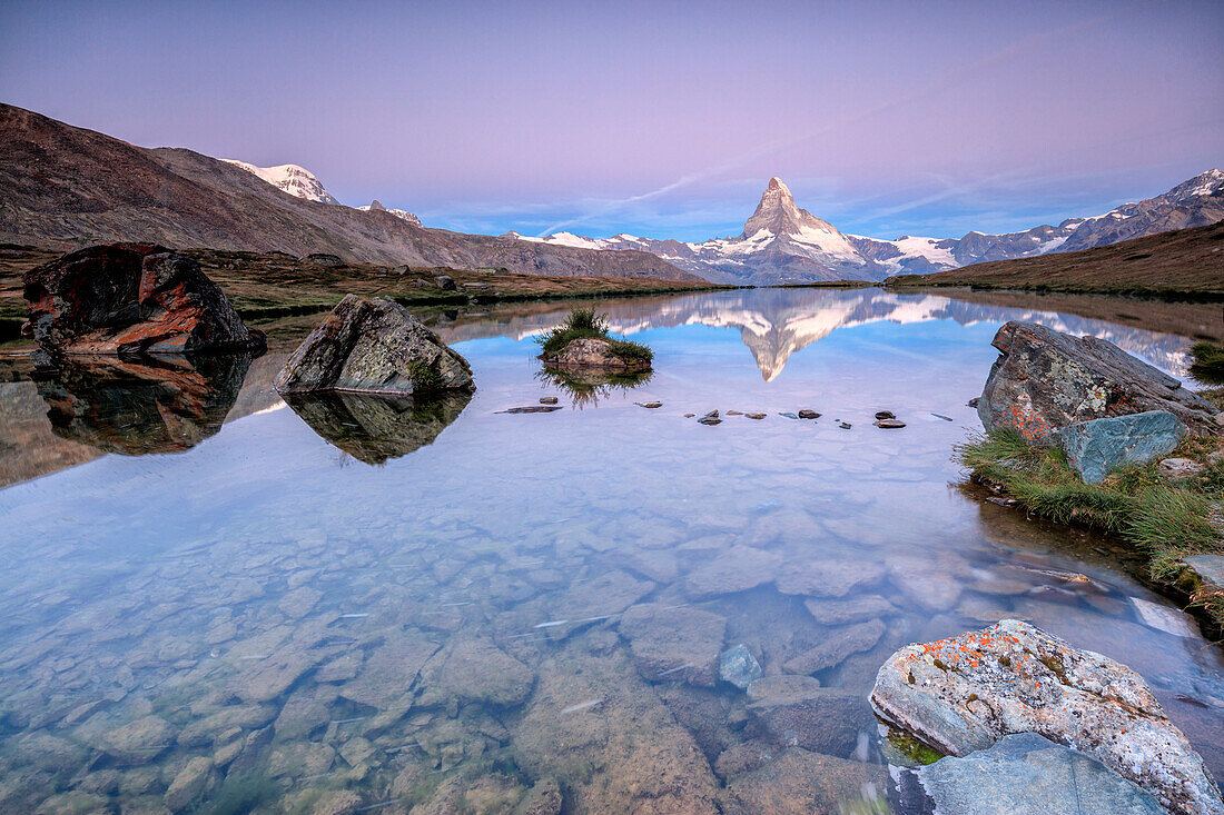
<path id="1" fill-rule="evenodd" d="M 345 207 L 296 164 L 261 168 L 182 148 L 136 147 L 12 105 L 0 104 L 0 241 L 56 248 L 155 241 L 296 256 L 328 252 L 389 266 L 770 285 L 884 280 L 1224 219 L 1224 171 L 1209 170 L 1162 196 L 1058 226 L 879 240 L 845 234 L 800 209 L 775 176 L 733 237 L 494 237 L 425 228 L 412 213 L 378 201 Z"/>

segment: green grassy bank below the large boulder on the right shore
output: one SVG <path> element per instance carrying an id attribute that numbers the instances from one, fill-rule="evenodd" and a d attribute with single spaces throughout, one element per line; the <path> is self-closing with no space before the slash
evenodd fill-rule
<path id="1" fill-rule="evenodd" d="M 1189 438 L 1171 453 L 1168 458 L 1204 465 L 1200 475 L 1179 482 L 1160 477 L 1152 463 L 1115 471 L 1098 485 L 1084 483 L 1062 450 L 1029 444 L 1011 430 L 974 436 L 956 445 L 953 458 L 973 481 L 1015 498 L 1034 515 L 1121 538 L 1142 556 L 1152 580 L 1177 585 L 1184 582 L 1181 558 L 1224 553 L 1224 459 L 1209 459 L 1220 442 Z M 1184 590 L 1192 606 L 1224 624 L 1224 597 L 1195 586 Z"/>

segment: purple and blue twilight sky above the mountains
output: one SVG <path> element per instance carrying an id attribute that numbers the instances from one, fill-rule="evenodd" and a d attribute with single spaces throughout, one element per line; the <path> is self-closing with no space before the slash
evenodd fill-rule
<path id="1" fill-rule="evenodd" d="M 845 231 L 1104 212 L 1224 164 L 1219 2 L 27 2 L 0 99 L 295 163 L 465 231 Z"/>

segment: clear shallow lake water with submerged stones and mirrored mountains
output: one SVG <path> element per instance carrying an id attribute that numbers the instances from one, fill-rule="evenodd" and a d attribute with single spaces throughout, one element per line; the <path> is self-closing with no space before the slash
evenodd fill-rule
<path id="1" fill-rule="evenodd" d="M 174 786 L 175 805 L 509 811 L 554 781 L 574 813 L 836 811 L 887 786 L 879 664 L 1005 616 L 1140 671 L 1224 772 L 1218 649 L 1146 624 L 1132 598 L 1169 605 L 1108 542 L 967 496 L 950 460 L 1006 319 L 1175 374 L 1187 339 L 874 290 L 600 307 L 656 373 L 577 401 L 537 376 L 553 305 L 433 317 L 479 384 L 437 410 L 300 415 L 269 390 L 293 343 L 240 389 L 230 370 L 4 385 L 0 432 L 45 475 L 0 491 L 0 803 L 137 811 Z M 563 409 L 499 412 L 542 395 Z M 823 417 L 780 415 L 804 408 Z M 881 409 L 908 426 L 873 427 Z M 56 470 L 102 450 L 126 454 Z M 848 653 L 821 649 L 851 625 Z M 737 644 L 840 693 L 749 704 L 710 666 Z"/>

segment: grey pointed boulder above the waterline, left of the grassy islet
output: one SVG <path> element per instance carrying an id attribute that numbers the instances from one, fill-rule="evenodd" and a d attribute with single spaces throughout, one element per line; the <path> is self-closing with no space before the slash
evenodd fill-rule
<path id="1" fill-rule="evenodd" d="M 471 367 L 393 300 L 346 295 L 273 381 L 280 393 L 472 392 Z"/>

